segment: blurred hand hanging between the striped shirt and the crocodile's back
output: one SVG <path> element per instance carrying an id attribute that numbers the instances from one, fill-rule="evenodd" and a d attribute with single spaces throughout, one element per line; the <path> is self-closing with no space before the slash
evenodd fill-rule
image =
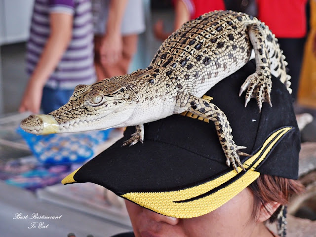
<path id="1" fill-rule="evenodd" d="M 103 66 L 117 63 L 122 58 L 123 40 L 120 34 L 108 34 L 101 40 L 99 54 Z"/>

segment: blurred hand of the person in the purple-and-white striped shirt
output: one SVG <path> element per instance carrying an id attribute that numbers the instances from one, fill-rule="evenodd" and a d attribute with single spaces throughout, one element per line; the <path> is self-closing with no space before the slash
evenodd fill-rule
<path id="1" fill-rule="evenodd" d="M 23 113 L 30 111 L 34 114 L 39 114 L 42 93 L 43 86 L 39 83 L 33 83 L 30 80 L 26 90 L 24 91 L 24 95 L 19 107 L 19 112 Z"/>

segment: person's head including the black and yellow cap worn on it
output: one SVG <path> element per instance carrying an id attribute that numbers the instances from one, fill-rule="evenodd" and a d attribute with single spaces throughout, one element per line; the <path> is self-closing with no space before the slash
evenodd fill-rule
<path id="1" fill-rule="evenodd" d="M 226 165 L 213 122 L 186 114 L 145 124 L 144 144 L 121 147 L 134 132 L 127 128 L 63 183 L 93 182 L 125 198 L 136 237 L 271 236 L 264 222 L 301 190 L 293 180 L 300 134 L 291 96 L 276 78 L 273 107 L 259 112 L 255 101 L 244 107 L 238 91 L 254 70 L 250 62 L 206 93 L 251 155 L 240 159 L 245 171 Z"/>

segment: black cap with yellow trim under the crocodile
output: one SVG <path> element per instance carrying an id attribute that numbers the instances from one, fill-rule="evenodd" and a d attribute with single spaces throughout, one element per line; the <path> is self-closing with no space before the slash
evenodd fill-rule
<path id="1" fill-rule="evenodd" d="M 245 108 L 238 92 L 254 71 L 249 62 L 206 93 L 229 119 L 236 144 L 247 147 L 241 151 L 252 155 L 240 158 L 246 171 L 226 165 L 212 121 L 172 115 L 144 124 L 144 144 L 121 147 L 135 132 L 128 127 L 122 139 L 62 182 L 96 183 L 160 214 L 192 218 L 223 205 L 260 174 L 297 179 L 300 133 L 292 97 L 273 78 L 273 107 L 264 103 L 259 112 L 252 99 Z"/>

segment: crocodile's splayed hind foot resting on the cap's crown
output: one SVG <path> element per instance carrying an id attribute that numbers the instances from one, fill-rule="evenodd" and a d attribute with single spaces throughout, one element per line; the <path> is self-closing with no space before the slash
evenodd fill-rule
<path id="1" fill-rule="evenodd" d="M 241 85 L 239 96 L 247 90 L 245 96 L 245 107 L 251 98 L 256 98 L 257 105 L 261 111 L 263 102 L 268 102 L 270 106 L 272 106 L 270 97 L 271 88 L 272 82 L 271 79 L 269 79 L 269 76 L 267 76 L 267 72 L 264 70 L 262 70 L 262 72 L 256 71 Z"/>

